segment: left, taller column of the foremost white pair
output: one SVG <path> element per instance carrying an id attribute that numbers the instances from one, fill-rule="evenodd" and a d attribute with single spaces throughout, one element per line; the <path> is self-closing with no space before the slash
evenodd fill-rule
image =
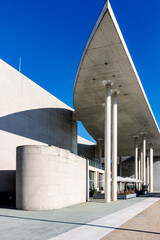
<path id="1" fill-rule="evenodd" d="M 105 201 L 111 201 L 111 81 L 105 85 Z"/>

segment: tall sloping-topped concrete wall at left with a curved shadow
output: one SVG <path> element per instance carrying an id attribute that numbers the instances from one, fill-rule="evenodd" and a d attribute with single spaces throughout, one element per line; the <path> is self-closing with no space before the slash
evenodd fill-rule
<path id="1" fill-rule="evenodd" d="M 0 86 L 1 192 L 10 179 L 8 170 L 16 169 L 17 146 L 46 144 L 77 153 L 77 127 L 73 109 L 2 60 Z"/>

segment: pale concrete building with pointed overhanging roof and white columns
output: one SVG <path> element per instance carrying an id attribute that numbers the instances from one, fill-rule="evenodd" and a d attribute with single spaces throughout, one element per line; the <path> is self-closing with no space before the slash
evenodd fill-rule
<path id="1" fill-rule="evenodd" d="M 111 193 L 116 201 L 117 165 L 139 188 L 142 181 L 160 190 L 159 128 L 109 1 L 82 54 L 75 109 L 2 60 L 0 82 L 0 193 L 16 192 L 17 208 L 77 204 L 89 199 L 89 188 L 105 188 L 106 201 Z M 77 120 L 97 145 L 77 141 Z"/>

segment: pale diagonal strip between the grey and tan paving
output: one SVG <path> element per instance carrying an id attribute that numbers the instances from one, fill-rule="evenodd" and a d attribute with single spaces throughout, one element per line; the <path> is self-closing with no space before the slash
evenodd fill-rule
<path id="1" fill-rule="evenodd" d="M 83 226 L 74 228 L 68 232 L 64 232 L 56 237 L 50 238 L 49 240 L 86 240 L 90 238 L 92 238 L 92 240 L 99 240 L 115 229 L 124 230 L 123 228 L 119 228 L 119 226 L 135 217 L 140 212 L 144 211 L 159 200 L 160 198 L 153 197 L 144 199 L 143 201 L 135 203 L 130 207 L 126 207 L 122 210 L 109 214 L 90 223 L 83 224 Z M 147 231 L 141 232 L 147 233 Z M 155 232 L 150 233 L 159 234 Z"/>

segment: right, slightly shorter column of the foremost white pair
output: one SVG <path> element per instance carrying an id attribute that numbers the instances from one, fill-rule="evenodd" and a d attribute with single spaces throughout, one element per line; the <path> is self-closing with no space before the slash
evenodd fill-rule
<path id="1" fill-rule="evenodd" d="M 112 200 L 117 201 L 117 94 L 113 92 L 112 106 Z"/>

